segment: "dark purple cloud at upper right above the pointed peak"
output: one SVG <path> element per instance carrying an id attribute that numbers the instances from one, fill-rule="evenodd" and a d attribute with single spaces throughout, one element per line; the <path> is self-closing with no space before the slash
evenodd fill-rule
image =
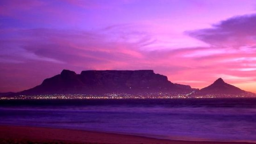
<path id="1" fill-rule="evenodd" d="M 212 28 L 185 32 L 191 37 L 219 47 L 256 45 L 256 14 L 235 16 L 213 24 Z"/>

